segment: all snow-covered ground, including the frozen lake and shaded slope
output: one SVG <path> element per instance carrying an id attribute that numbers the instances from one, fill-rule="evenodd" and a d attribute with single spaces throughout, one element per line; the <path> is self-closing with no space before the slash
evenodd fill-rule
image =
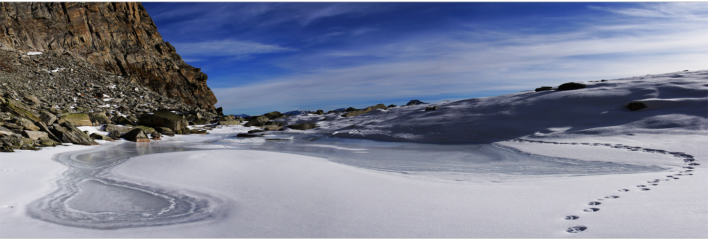
<path id="1" fill-rule="evenodd" d="M 708 237 L 708 71 L 585 84 L 1 153 L 0 236 Z"/>

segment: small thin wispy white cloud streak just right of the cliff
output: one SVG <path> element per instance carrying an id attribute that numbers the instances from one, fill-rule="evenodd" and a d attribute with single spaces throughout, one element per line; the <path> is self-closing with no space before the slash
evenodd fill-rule
<path id="1" fill-rule="evenodd" d="M 297 51 L 289 47 L 278 45 L 265 45 L 259 42 L 220 40 L 195 43 L 173 43 L 177 53 L 182 56 L 195 57 L 236 57 L 247 58 L 258 53 L 292 52 Z"/>

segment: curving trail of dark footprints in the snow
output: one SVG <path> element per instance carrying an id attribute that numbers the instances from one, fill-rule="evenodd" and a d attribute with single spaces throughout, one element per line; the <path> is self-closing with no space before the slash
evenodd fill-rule
<path id="1" fill-rule="evenodd" d="M 701 164 L 696 163 L 696 159 L 694 158 L 694 156 L 692 156 L 692 155 L 690 155 L 690 154 L 686 154 L 685 152 L 668 152 L 668 151 L 662 150 L 662 149 L 649 149 L 649 148 L 642 148 L 642 147 L 631 147 L 631 146 L 627 146 L 627 145 L 624 145 L 624 144 L 602 144 L 602 143 L 592 143 L 592 144 L 591 144 L 591 143 L 586 143 L 586 142 L 583 142 L 583 143 L 577 143 L 577 142 L 546 142 L 546 141 L 527 140 L 527 139 L 518 139 L 518 138 L 517 138 L 517 139 L 509 139 L 509 140 L 507 140 L 507 141 L 510 141 L 510 142 L 531 142 L 531 143 L 542 143 L 542 144 L 564 144 L 564 145 L 578 145 L 578 144 L 581 144 L 581 145 L 588 145 L 588 146 L 612 147 L 612 148 L 615 148 L 615 149 L 626 149 L 626 150 L 628 150 L 628 151 L 641 151 L 641 152 L 646 152 L 646 153 L 650 153 L 650 154 L 668 154 L 668 155 L 670 155 L 670 156 L 683 159 L 683 163 L 686 164 L 686 166 L 683 166 L 682 168 L 684 168 L 685 170 L 683 170 L 683 171 L 678 171 L 678 173 L 675 173 L 675 174 L 673 174 L 673 175 L 668 175 L 668 176 L 666 176 L 666 179 L 654 179 L 653 181 L 646 181 L 646 183 L 649 183 L 649 185 L 653 185 L 653 186 L 658 185 L 658 182 L 659 182 L 659 181 L 670 181 L 670 180 L 680 179 L 680 178 L 678 178 L 678 177 L 676 177 L 676 176 L 693 176 L 693 175 L 694 175 L 694 173 L 693 173 L 694 170 L 693 170 L 693 169 L 695 169 L 695 166 L 700 166 L 700 165 L 701 165 Z M 642 184 L 642 185 L 636 185 L 636 187 L 639 188 L 639 190 L 641 190 L 641 191 L 648 191 L 648 190 L 651 190 L 651 188 L 646 188 L 647 186 L 646 186 L 646 185 L 643 185 L 643 184 Z M 620 189 L 620 190 L 617 190 L 617 191 L 619 191 L 619 192 L 629 192 L 629 189 Z M 615 198 L 619 198 L 619 196 L 617 196 L 617 195 L 610 195 L 610 196 L 606 196 L 606 197 L 603 197 L 603 198 L 605 198 L 605 199 L 615 199 Z M 603 198 L 600 198 L 600 199 L 598 199 L 598 200 L 600 200 L 600 201 L 601 201 L 601 200 L 605 200 L 605 199 L 603 199 Z M 588 205 L 600 205 L 600 204 L 601 204 L 600 202 L 588 202 Z M 588 209 L 584 209 L 583 211 L 584 211 L 584 212 L 597 212 L 597 211 L 599 211 L 599 210 L 600 210 L 600 209 L 597 208 L 597 207 L 591 207 L 591 208 L 588 208 Z M 564 217 L 564 219 L 566 219 L 566 220 L 575 220 L 575 219 L 578 219 L 578 218 L 580 218 L 580 217 L 575 216 L 575 215 L 569 215 L 569 216 Z M 578 233 L 578 232 L 583 232 L 583 231 L 585 231 L 586 229 L 588 229 L 588 227 L 585 227 L 585 226 L 575 226 L 575 227 L 569 227 L 569 228 L 567 228 L 565 231 L 574 234 L 574 233 Z"/>

